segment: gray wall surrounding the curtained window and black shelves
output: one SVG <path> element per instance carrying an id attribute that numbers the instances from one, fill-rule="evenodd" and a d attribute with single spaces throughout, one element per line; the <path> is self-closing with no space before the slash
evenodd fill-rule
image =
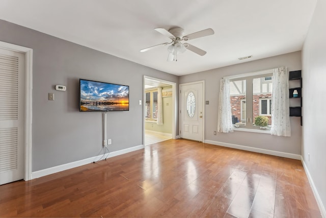
<path id="1" fill-rule="evenodd" d="M 216 60 L 218 61 L 218 60 Z M 217 133 L 218 129 L 218 101 L 220 80 L 224 76 L 244 74 L 264 69 L 286 66 L 289 71 L 301 69 L 301 52 L 250 61 L 232 66 L 198 72 L 196 74 L 181 76 L 179 83 L 188 83 L 199 80 L 205 81 L 205 140 L 238 144 L 259 149 L 267 149 L 291 154 L 301 154 L 301 126 L 300 118 L 290 117 L 291 137 L 272 136 L 262 133 L 239 132 Z"/>

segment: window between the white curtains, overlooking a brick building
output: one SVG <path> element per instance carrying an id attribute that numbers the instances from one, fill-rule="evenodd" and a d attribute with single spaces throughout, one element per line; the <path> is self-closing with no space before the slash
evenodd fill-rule
<path id="1" fill-rule="evenodd" d="M 234 127 L 261 129 L 262 125 L 255 125 L 255 119 L 258 116 L 267 117 L 267 128 L 271 125 L 272 88 L 272 70 L 239 75 L 230 79 L 232 119 L 238 120 L 238 123 L 233 122 Z"/>

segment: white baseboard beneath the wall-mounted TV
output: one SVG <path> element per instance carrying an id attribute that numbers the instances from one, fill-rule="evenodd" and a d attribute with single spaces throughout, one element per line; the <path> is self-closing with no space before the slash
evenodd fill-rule
<path id="1" fill-rule="evenodd" d="M 137 151 L 137 150 L 140 150 L 140 149 L 144 149 L 143 144 L 141 144 L 140 146 L 135 146 L 135 147 L 128 148 L 128 149 L 123 149 L 123 150 L 120 150 L 120 151 L 110 152 L 110 154 L 108 155 L 107 158 L 115 157 L 115 156 L 118 156 L 118 155 L 133 152 L 133 151 Z M 36 178 L 39 178 L 39 177 L 42 177 L 42 176 L 47 176 L 47 175 L 50 175 L 50 174 L 65 171 L 66 169 L 71 169 L 71 168 L 74 168 L 74 167 L 77 167 L 77 166 L 82 166 L 82 165 L 85 165 L 85 164 L 89 164 L 89 163 L 92 163 L 93 161 L 103 160 L 104 158 L 106 158 L 106 156 L 107 156 L 107 154 L 105 154 L 104 156 L 103 156 L 103 154 L 101 154 L 101 155 L 98 155 L 98 156 L 95 156 L 95 157 L 86 158 L 84 160 L 78 160 L 78 161 L 74 161 L 74 162 L 71 162 L 71 163 L 62 164 L 62 165 L 59 165 L 59 166 L 53 166 L 53 167 L 50 167 L 50 168 L 41 169 L 40 171 L 32 172 L 32 179 L 36 179 Z"/>

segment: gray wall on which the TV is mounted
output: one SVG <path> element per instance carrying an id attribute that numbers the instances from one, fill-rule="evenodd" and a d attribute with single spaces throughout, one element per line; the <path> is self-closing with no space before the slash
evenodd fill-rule
<path id="1" fill-rule="evenodd" d="M 0 20 L 0 41 L 33 49 L 32 171 L 99 155 L 102 113 L 79 112 L 79 78 L 130 86 L 127 112 L 107 113 L 110 151 L 143 144 L 144 75 L 178 77 Z M 56 91 L 55 85 L 67 86 Z M 55 101 L 47 93 L 55 93 Z"/>

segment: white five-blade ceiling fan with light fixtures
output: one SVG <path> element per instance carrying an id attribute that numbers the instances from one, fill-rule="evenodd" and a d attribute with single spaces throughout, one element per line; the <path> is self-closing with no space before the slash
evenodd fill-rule
<path id="1" fill-rule="evenodd" d="M 169 37 L 172 41 L 171 42 L 165 42 L 157 45 L 153 45 L 150 47 L 147 47 L 146 49 L 142 49 L 141 52 L 147 52 L 149 50 L 155 49 L 156 47 L 160 47 L 162 45 L 168 45 L 168 60 L 167 61 L 177 61 L 177 55 L 179 53 L 184 53 L 187 50 L 192 51 L 200 56 L 203 56 L 206 54 L 204 50 L 199 49 L 199 47 L 196 47 L 194 45 L 188 44 L 188 43 L 182 43 L 182 41 L 188 41 L 191 39 L 196 39 L 204 36 L 213 35 L 214 31 L 210 28 L 202 31 L 198 31 L 196 33 L 188 34 L 183 36 L 183 29 L 180 27 L 174 27 L 170 30 L 166 30 L 164 28 L 155 28 L 157 32 Z"/>

